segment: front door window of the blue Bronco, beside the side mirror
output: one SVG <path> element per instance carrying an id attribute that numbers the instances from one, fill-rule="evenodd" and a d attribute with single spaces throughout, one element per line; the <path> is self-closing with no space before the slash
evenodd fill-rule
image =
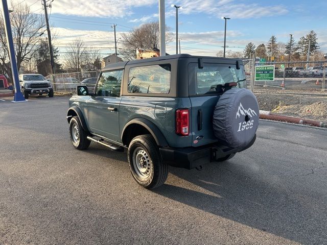
<path id="1" fill-rule="evenodd" d="M 96 95 L 106 97 L 121 96 L 121 84 L 123 79 L 123 70 L 102 72 L 98 82 Z"/>

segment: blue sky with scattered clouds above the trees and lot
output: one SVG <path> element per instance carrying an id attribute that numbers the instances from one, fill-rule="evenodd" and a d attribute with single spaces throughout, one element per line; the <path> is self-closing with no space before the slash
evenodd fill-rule
<path id="1" fill-rule="evenodd" d="M 43 13 L 40 1 L 26 3 L 35 13 Z M 166 0 L 166 24 L 175 32 L 175 9 L 171 4 L 183 7 L 179 11 L 182 53 L 216 55 L 221 51 L 221 16 L 231 18 L 226 41 L 230 51 L 242 51 L 248 42 L 266 44 L 271 35 L 287 42 L 289 34 L 293 34 L 297 41 L 310 30 L 318 34 L 321 50 L 327 50 L 327 1 Z M 110 23 L 118 24 L 119 38 L 121 33 L 151 20 L 158 20 L 158 0 L 54 0 L 50 16 L 57 46 L 80 37 L 87 45 L 101 47 L 104 54 L 113 52 Z M 175 52 L 175 41 L 168 43 L 167 52 Z"/>

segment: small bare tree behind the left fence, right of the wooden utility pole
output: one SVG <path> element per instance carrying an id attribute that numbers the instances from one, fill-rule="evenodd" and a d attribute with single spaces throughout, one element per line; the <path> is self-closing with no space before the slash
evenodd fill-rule
<path id="1" fill-rule="evenodd" d="M 64 55 L 65 68 L 74 72 L 81 70 L 81 65 L 85 65 L 89 61 L 89 52 L 86 50 L 84 41 L 76 38 L 73 42 L 68 43 L 66 53 Z"/>

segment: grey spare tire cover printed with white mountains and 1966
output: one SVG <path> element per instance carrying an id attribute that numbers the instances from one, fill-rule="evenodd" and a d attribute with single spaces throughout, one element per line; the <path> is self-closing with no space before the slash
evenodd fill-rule
<path id="1" fill-rule="evenodd" d="M 252 92 L 232 88 L 217 102 L 213 116 L 214 134 L 223 145 L 245 148 L 259 125 L 259 105 Z"/>

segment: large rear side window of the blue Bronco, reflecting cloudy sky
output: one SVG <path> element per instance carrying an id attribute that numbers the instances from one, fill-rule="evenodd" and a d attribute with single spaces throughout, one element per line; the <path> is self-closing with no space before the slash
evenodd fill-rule
<path id="1" fill-rule="evenodd" d="M 171 65 L 148 65 L 129 69 L 129 93 L 169 93 Z"/>

